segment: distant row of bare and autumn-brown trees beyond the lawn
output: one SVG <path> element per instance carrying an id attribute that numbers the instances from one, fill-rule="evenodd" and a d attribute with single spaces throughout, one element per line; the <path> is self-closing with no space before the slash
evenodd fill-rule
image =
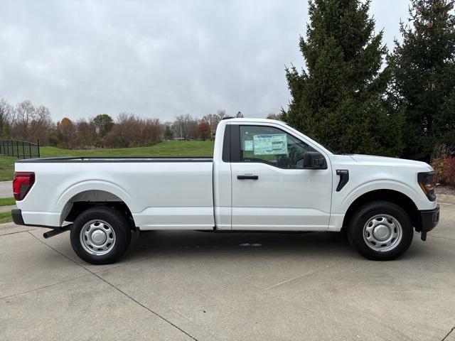
<path id="1" fill-rule="evenodd" d="M 213 139 L 216 127 L 226 116 L 225 110 L 198 119 L 191 114 L 179 115 L 174 121 L 138 117 L 122 112 L 115 119 L 99 114 L 75 121 L 65 117 L 53 122 L 47 107 L 31 101 L 12 105 L 0 99 L 0 138 L 40 141 L 43 146 L 59 148 L 128 148 L 151 146 L 171 139 Z M 236 117 L 243 117 L 238 112 Z"/>

